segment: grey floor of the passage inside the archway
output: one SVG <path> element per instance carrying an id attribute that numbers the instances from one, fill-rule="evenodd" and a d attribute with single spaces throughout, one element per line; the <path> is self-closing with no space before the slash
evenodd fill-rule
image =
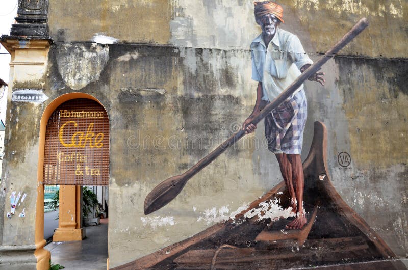
<path id="1" fill-rule="evenodd" d="M 51 252 L 53 264 L 65 269 L 105 270 L 108 259 L 108 224 L 85 227 L 82 241 L 51 242 L 45 249 Z"/>

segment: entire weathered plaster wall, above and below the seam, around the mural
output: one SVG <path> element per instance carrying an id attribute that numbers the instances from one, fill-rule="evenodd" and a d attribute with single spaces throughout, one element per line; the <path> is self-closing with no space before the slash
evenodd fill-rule
<path id="1" fill-rule="evenodd" d="M 313 122 L 323 121 L 335 187 L 406 258 L 408 4 L 282 4 L 282 28 L 299 36 L 313 60 L 360 17 L 371 22 L 323 67 L 324 87 L 305 84 L 309 117 L 302 157 L 311 143 Z M 252 2 L 244 1 L 50 1 L 49 31 L 56 44 L 43 86 L 50 99 L 39 106 L 9 102 L 8 186 L 35 189 L 34 179 L 15 183 L 36 171 L 37 159 L 29 160 L 38 150 L 42 111 L 54 98 L 80 91 L 99 99 L 111 121 L 111 267 L 233 216 L 281 181 L 275 157 L 264 147 L 263 124 L 191 179 L 166 207 L 145 216 L 143 201 L 158 183 L 184 172 L 236 131 L 251 112 L 257 83 L 250 78 L 247 48 L 260 33 L 252 14 Z M 90 43 L 97 33 L 116 38 L 118 44 Z M 338 164 L 343 151 L 351 156 L 351 169 Z M 20 170 L 25 163 L 27 171 Z M 4 198 L 9 196 L 7 190 Z M 27 211 L 33 215 L 30 205 Z M 13 227 L 5 218 L 3 242 L 13 242 L 12 233 L 25 228 L 21 222 L 32 222 L 29 217 L 14 219 Z"/>

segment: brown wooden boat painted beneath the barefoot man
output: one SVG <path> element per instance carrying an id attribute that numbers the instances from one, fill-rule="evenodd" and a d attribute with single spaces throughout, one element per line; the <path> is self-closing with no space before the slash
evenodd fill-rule
<path id="1" fill-rule="evenodd" d="M 308 224 L 284 230 L 288 219 L 248 217 L 260 203 L 290 205 L 284 182 L 253 201 L 234 220 L 218 223 L 155 253 L 115 269 L 406 269 L 384 240 L 340 197 L 326 165 L 327 131 L 315 122 L 303 163 Z M 246 216 L 246 217 L 245 217 Z"/>

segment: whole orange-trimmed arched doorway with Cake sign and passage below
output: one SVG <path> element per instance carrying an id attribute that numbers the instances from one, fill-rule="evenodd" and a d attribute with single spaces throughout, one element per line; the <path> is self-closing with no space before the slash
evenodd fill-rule
<path id="1" fill-rule="evenodd" d="M 45 109 L 37 174 L 37 267 L 44 268 L 51 253 L 53 264 L 63 265 L 66 258 L 66 268 L 107 268 L 109 131 L 105 108 L 90 95 L 66 94 Z M 51 207 L 56 193 L 58 203 Z M 96 203 L 84 208 L 84 202 L 92 203 L 84 197 L 89 194 Z M 44 238 L 50 240 L 45 249 Z"/>

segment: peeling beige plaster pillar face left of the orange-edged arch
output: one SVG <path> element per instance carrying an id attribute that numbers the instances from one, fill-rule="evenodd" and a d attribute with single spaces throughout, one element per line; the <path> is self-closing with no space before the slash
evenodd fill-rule
<path id="1" fill-rule="evenodd" d="M 10 103 L 9 103 L 10 104 Z M 10 112 L 14 114 L 13 130 L 6 132 L 6 150 L 4 156 L 2 191 L 7 194 L 4 203 L 3 245 L 32 245 L 35 231 L 35 204 L 37 198 L 37 161 L 38 161 L 38 129 L 42 106 L 33 104 L 11 103 Z M 33 118 L 38 116 L 39 118 Z M 28 125 L 27 123 L 32 123 Z M 12 137 L 12 138 L 11 138 Z M 6 217 L 11 212 L 10 195 L 15 197 L 20 193 L 15 214 L 12 218 Z M 24 196 L 24 199 L 22 196 Z M 23 199 L 23 200 L 22 200 Z M 19 214 L 25 208 L 25 217 Z M 31 232 L 31 233 L 28 233 Z M 24 235 L 24 237 L 20 237 Z"/>

